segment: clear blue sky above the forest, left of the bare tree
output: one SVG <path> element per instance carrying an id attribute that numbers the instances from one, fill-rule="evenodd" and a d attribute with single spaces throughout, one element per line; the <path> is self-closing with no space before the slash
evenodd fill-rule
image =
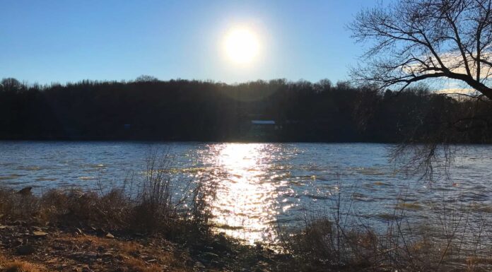
<path id="1" fill-rule="evenodd" d="M 0 0 L 0 78 L 339 81 L 362 52 L 346 24 L 376 3 Z M 224 58 L 221 40 L 232 25 L 257 31 L 262 50 L 253 66 Z"/>

